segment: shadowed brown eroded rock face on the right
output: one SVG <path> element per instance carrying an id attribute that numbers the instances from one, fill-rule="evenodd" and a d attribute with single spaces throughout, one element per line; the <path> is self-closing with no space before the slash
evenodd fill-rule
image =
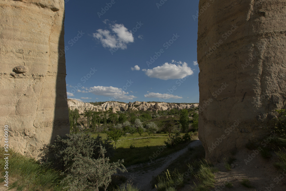
<path id="1" fill-rule="evenodd" d="M 285 108 L 286 2 L 200 0 L 199 9 L 199 139 L 216 161 L 265 135 Z"/>

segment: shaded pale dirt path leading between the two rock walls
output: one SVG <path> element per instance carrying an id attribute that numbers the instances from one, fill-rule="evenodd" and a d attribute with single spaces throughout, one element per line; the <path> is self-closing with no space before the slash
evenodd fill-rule
<path id="1" fill-rule="evenodd" d="M 163 172 L 174 160 L 176 160 L 180 155 L 187 152 L 188 147 L 197 147 L 199 145 L 202 145 L 200 140 L 194 140 L 184 149 L 181 149 L 176 153 L 170 154 L 166 157 L 162 157 L 156 160 L 156 162 L 132 165 L 127 168 L 128 172 L 121 173 L 120 175 L 123 175 L 129 180 L 131 180 L 131 182 L 133 182 L 134 185 L 137 185 L 137 187 L 141 190 L 156 190 L 152 189 L 150 184 L 152 177 L 156 177 L 161 172 Z"/>

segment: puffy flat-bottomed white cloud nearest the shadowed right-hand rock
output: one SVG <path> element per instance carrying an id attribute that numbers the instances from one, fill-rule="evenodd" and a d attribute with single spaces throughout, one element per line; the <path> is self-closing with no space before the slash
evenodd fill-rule
<path id="1" fill-rule="evenodd" d="M 178 63 L 178 65 L 166 62 L 162 66 L 148 70 L 143 69 L 142 71 L 150 78 L 159 78 L 161 80 L 181 79 L 194 73 L 186 62 L 182 63 L 180 61 L 176 63 Z"/>

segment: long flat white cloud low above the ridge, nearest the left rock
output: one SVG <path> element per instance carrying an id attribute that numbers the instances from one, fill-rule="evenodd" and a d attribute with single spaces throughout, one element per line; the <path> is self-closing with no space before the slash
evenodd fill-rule
<path id="1" fill-rule="evenodd" d="M 82 93 L 93 93 L 95 95 L 101 95 L 106 97 L 114 97 L 114 99 L 117 100 L 132 100 L 134 98 L 137 98 L 133 95 L 128 95 L 128 92 L 125 92 L 121 88 L 116 87 L 106 87 L 106 86 L 94 86 L 90 88 L 85 88 L 85 91 L 78 90 L 78 92 Z"/>

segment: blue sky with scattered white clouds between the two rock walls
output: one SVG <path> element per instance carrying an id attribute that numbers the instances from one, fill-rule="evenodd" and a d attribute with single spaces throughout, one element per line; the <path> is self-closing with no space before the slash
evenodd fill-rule
<path id="1" fill-rule="evenodd" d="M 65 0 L 68 98 L 198 103 L 198 1 Z"/>

